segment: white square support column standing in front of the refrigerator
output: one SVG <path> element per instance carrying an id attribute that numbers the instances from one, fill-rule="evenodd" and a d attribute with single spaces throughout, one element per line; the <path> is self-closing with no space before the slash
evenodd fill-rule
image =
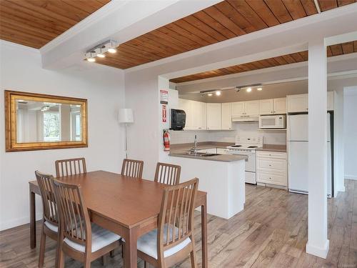
<path id="1" fill-rule="evenodd" d="M 324 39 L 308 44 L 308 243 L 321 258 L 327 239 L 327 67 Z"/>

